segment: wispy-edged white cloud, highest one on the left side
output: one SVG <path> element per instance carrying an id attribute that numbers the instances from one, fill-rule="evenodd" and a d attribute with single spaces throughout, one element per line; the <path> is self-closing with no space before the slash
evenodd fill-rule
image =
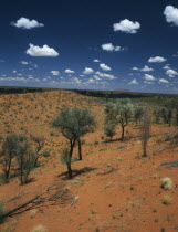
<path id="1" fill-rule="evenodd" d="M 11 25 L 22 29 L 32 29 L 44 27 L 43 23 L 39 23 L 36 20 L 29 20 L 24 17 L 21 17 L 17 22 L 11 22 Z"/>

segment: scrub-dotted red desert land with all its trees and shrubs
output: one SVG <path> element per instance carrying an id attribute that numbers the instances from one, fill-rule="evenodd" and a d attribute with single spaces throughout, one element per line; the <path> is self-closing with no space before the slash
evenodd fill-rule
<path id="1" fill-rule="evenodd" d="M 28 231 L 177 226 L 178 96 L 88 95 L 51 91 L 0 96 L 2 231 L 24 230 L 21 220 L 28 217 Z M 78 224 L 72 219 L 75 211 Z"/>

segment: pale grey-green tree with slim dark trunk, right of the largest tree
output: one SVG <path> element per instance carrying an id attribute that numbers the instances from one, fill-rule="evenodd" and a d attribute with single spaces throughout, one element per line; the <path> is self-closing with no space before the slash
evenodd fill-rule
<path id="1" fill-rule="evenodd" d="M 124 140 L 125 127 L 134 110 L 134 106 L 129 99 L 117 101 L 115 103 L 107 103 L 104 112 L 106 114 L 105 124 L 121 125 L 122 127 L 122 141 Z"/>

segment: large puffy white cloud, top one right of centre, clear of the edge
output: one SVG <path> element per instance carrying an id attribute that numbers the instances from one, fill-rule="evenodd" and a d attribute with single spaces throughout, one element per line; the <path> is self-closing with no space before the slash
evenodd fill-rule
<path id="1" fill-rule="evenodd" d="M 137 30 L 140 28 L 139 22 L 133 22 L 128 19 L 121 20 L 119 23 L 113 24 L 114 31 L 122 31 L 126 33 L 137 33 Z"/>

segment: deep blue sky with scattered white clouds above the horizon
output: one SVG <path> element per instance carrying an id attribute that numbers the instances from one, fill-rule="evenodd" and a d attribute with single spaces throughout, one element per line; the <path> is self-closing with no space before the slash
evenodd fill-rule
<path id="1" fill-rule="evenodd" d="M 1 0 L 0 85 L 178 93 L 176 0 Z"/>

